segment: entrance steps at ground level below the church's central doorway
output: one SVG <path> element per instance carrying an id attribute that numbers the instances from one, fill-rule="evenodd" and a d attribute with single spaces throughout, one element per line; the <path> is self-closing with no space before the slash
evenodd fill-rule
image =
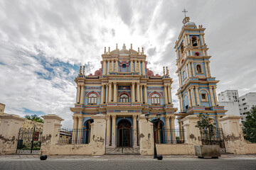
<path id="1" fill-rule="evenodd" d="M 107 148 L 106 154 L 139 154 L 139 147 L 116 147 L 116 148 Z"/>

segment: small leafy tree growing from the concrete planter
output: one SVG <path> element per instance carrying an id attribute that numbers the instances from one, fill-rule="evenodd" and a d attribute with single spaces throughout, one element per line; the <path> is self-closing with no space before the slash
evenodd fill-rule
<path id="1" fill-rule="evenodd" d="M 206 143 L 210 142 L 210 145 L 212 145 L 211 137 L 214 135 L 215 123 L 210 123 L 210 121 L 213 118 L 210 118 L 208 113 L 200 113 L 198 118 L 196 128 L 199 128 L 202 139 L 205 139 Z"/>

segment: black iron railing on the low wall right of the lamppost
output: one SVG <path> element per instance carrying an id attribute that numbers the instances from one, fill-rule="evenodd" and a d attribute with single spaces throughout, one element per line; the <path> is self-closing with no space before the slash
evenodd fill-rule
<path id="1" fill-rule="evenodd" d="M 155 129 L 156 144 L 183 144 L 185 142 L 183 129 Z"/>

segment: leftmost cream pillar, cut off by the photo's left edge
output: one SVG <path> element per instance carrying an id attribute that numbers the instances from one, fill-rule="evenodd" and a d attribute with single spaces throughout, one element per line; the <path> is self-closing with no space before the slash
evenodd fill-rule
<path id="1" fill-rule="evenodd" d="M 0 115 L 0 154 L 15 154 L 18 144 L 18 130 L 25 120 L 18 115 Z"/>

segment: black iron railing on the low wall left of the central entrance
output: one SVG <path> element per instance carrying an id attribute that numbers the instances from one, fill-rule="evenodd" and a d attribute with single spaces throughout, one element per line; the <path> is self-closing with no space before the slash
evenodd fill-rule
<path id="1" fill-rule="evenodd" d="M 89 144 L 90 129 L 61 128 L 59 130 L 59 144 Z"/>

